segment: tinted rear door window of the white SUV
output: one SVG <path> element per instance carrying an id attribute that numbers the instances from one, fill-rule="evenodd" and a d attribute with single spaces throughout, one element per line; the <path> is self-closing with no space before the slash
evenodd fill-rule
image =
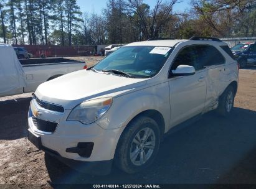
<path id="1" fill-rule="evenodd" d="M 199 45 L 199 61 L 203 67 L 209 67 L 212 65 L 220 65 L 225 63 L 225 58 L 217 50 L 217 48 L 211 45 Z"/>

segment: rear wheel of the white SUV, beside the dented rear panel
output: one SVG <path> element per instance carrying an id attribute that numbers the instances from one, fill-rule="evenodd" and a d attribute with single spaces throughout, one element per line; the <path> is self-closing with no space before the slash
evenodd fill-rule
<path id="1" fill-rule="evenodd" d="M 228 86 L 219 98 L 217 113 L 221 116 L 229 116 L 234 107 L 235 93 L 232 86 Z"/>

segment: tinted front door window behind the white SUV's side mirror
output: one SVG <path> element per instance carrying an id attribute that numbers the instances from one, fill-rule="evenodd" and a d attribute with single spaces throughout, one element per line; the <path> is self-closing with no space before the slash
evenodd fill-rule
<path id="1" fill-rule="evenodd" d="M 197 46 L 189 46 L 183 48 L 174 59 L 171 70 L 176 70 L 179 65 L 193 66 L 196 70 L 200 70 L 202 65 L 199 62 L 199 54 Z"/>

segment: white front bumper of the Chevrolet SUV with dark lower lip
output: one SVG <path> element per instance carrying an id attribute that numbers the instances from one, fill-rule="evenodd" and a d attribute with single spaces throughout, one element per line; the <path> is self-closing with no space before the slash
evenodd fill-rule
<path id="1" fill-rule="evenodd" d="M 66 121 L 71 110 L 65 110 L 63 114 L 56 114 L 46 110 L 32 99 L 31 106 L 40 112 L 38 119 L 54 121 L 58 125 L 54 132 L 41 132 L 35 126 L 31 108 L 29 109 L 29 141 L 39 149 L 44 150 L 64 164 L 80 171 L 91 174 L 107 174 L 111 170 L 111 164 L 115 154 L 116 144 L 121 135 L 122 129 L 102 129 L 95 122 L 84 125 L 77 121 Z M 35 139 L 39 138 L 35 142 Z M 90 157 L 81 157 L 78 153 L 67 152 L 67 149 L 74 149 L 80 142 L 93 143 Z M 100 171 L 98 171 L 100 170 Z"/>

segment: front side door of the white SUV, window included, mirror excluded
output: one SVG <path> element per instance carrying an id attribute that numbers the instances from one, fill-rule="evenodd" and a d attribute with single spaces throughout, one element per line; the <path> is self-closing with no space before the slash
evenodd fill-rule
<path id="1" fill-rule="evenodd" d="M 181 49 L 171 65 L 171 70 L 176 70 L 179 65 L 191 65 L 196 73 L 169 78 L 171 126 L 201 114 L 206 100 L 206 70 L 199 59 L 197 45 Z"/>

